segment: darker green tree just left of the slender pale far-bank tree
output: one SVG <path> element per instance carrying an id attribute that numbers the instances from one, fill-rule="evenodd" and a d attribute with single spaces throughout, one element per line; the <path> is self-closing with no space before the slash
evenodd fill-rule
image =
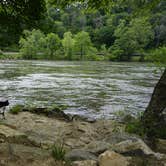
<path id="1" fill-rule="evenodd" d="M 46 52 L 50 59 L 53 59 L 56 51 L 60 48 L 61 40 L 57 34 L 49 33 L 46 36 Z"/>

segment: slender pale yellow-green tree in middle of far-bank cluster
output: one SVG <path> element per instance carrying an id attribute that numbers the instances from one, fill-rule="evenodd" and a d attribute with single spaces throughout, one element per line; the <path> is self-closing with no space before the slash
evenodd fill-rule
<path id="1" fill-rule="evenodd" d="M 72 38 L 71 32 L 64 33 L 64 38 L 62 39 L 62 45 L 64 47 L 65 55 L 68 60 L 72 59 L 74 50 L 75 40 Z"/>

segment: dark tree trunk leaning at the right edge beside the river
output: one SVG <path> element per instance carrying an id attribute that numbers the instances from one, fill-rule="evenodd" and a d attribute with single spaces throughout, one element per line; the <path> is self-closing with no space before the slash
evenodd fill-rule
<path id="1" fill-rule="evenodd" d="M 166 69 L 153 91 L 142 121 L 148 137 L 166 138 Z"/>

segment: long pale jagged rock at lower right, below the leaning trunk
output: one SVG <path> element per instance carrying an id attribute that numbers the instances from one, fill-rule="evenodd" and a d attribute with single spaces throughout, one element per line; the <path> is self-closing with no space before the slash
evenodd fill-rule
<path id="1" fill-rule="evenodd" d="M 141 139 L 126 140 L 112 146 L 112 149 L 118 153 L 125 155 L 154 155 L 160 158 L 159 153 L 153 152 Z"/>

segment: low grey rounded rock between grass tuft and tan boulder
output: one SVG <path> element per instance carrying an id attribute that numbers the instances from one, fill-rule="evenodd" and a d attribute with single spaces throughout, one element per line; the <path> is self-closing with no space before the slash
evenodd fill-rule
<path id="1" fill-rule="evenodd" d="M 97 160 L 97 157 L 85 150 L 82 149 L 74 149 L 68 152 L 65 155 L 65 158 L 71 161 L 80 161 L 80 160 Z"/>

